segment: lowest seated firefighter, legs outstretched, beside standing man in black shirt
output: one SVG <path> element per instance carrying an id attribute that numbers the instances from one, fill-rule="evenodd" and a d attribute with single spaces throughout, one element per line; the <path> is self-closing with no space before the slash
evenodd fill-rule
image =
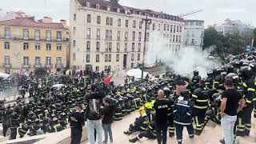
<path id="1" fill-rule="evenodd" d="M 150 122 L 150 126 L 147 127 L 146 131 L 141 132 L 135 138 L 129 139 L 129 142 L 135 143 L 143 137 L 150 139 L 157 138 L 157 131 L 155 130 L 154 120 Z"/>

